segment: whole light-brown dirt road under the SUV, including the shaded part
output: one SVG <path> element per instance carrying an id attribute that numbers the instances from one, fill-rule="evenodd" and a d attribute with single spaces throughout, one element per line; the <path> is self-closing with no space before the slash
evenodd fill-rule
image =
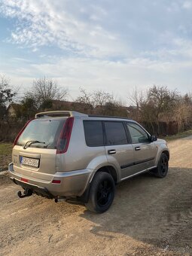
<path id="1" fill-rule="evenodd" d="M 20 200 L 0 176 L 0 255 L 192 255 L 192 137 L 169 143 L 164 179 L 117 187 L 102 215 L 38 196 Z"/>

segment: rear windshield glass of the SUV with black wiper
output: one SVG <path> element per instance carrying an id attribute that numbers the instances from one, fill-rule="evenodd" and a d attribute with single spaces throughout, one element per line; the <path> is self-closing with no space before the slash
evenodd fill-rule
<path id="1" fill-rule="evenodd" d="M 35 119 L 32 120 L 21 134 L 17 145 L 30 148 L 55 148 L 66 119 Z M 44 143 L 32 143 L 32 142 Z"/>

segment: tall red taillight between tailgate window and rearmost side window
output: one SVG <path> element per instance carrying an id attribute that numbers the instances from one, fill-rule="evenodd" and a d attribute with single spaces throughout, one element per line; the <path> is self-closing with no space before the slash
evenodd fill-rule
<path id="1" fill-rule="evenodd" d="M 62 131 L 59 135 L 59 139 L 56 146 L 56 154 L 66 153 L 69 147 L 69 141 L 72 134 L 72 126 L 74 122 L 74 117 L 68 117 Z"/>

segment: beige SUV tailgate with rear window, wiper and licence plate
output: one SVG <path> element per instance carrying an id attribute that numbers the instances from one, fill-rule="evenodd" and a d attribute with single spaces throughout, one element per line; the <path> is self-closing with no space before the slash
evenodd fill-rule
<path id="1" fill-rule="evenodd" d="M 56 172 L 56 148 L 66 118 L 32 120 L 14 145 L 14 171 L 27 177 L 50 181 Z"/>

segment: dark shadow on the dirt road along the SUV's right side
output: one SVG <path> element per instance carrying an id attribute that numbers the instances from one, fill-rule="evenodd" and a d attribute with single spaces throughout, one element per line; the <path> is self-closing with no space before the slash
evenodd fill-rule
<path id="1" fill-rule="evenodd" d="M 166 178 L 150 173 L 117 186 L 108 212 L 85 211 L 96 236 L 114 238 L 121 233 L 158 248 L 192 253 L 192 169 L 169 168 Z"/>

